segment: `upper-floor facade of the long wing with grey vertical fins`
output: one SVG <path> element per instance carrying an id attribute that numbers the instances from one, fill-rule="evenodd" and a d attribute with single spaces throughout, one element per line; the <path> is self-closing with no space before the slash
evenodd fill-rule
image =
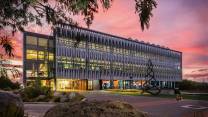
<path id="1" fill-rule="evenodd" d="M 56 31 L 58 77 L 144 80 L 150 59 L 159 81 L 181 80 L 181 52 L 81 28 Z"/>

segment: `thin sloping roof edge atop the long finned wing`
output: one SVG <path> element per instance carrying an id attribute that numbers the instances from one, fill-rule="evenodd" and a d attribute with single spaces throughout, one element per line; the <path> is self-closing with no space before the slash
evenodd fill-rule
<path id="1" fill-rule="evenodd" d="M 161 46 L 157 46 L 157 45 L 152 45 L 152 44 L 148 44 L 148 43 L 145 43 L 145 42 L 140 42 L 139 40 L 136 41 L 136 40 L 120 37 L 120 36 L 117 36 L 117 35 L 112 35 L 112 34 L 109 34 L 109 33 L 104 33 L 104 32 L 100 32 L 100 31 L 96 31 L 96 30 L 92 30 L 92 29 L 88 29 L 88 28 L 84 28 L 84 27 L 78 27 L 78 26 L 71 25 L 71 24 L 60 23 L 60 25 L 70 26 L 70 27 L 74 27 L 74 28 L 78 28 L 78 29 L 82 29 L 82 30 L 86 30 L 86 31 L 91 31 L 91 32 L 94 32 L 94 33 L 99 33 L 99 34 L 102 34 L 102 35 L 107 35 L 107 36 L 111 36 L 111 37 L 115 37 L 115 38 L 120 38 L 120 39 L 123 39 L 123 40 L 126 40 L 126 41 L 136 42 L 136 43 L 139 43 L 139 44 L 145 44 L 145 45 L 152 46 L 152 47 L 157 47 L 157 48 L 161 48 L 161 49 L 165 49 L 165 50 L 169 50 L 169 51 L 174 51 L 174 52 L 177 52 L 177 53 L 182 53 L 180 51 L 173 50 L 173 49 L 170 49 L 170 48 L 165 48 L 165 47 L 161 47 Z"/>

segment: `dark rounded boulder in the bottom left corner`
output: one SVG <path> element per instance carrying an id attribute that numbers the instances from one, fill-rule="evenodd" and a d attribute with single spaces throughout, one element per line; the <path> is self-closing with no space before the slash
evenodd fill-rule
<path id="1" fill-rule="evenodd" d="M 0 117 L 23 117 L 24 104 L 15 94 L 0 91 Z"/>

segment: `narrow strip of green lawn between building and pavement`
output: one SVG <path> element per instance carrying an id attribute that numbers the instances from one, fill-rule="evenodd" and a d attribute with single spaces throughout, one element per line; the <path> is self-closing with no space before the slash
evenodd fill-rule
<path id="1" fill-rule="evenodd" d="M 107 89 L 109 93 L 113 94 L 120 94 L 120 95 L 131 95 L 131 96 L 149 96 L 149 97 L 161 97 L 161 98 L 175 98 L 175 95 L 169 95 L 169 94 L 159 94 L 157 96 L 153 96 L 149 93 L 143 93 L 141 94 L 142 90 L 138 89 Z M 182 94 L 183 99 L 191 99 L 191 100 L 206 100 L 208 101 L 208 94 Z"/>

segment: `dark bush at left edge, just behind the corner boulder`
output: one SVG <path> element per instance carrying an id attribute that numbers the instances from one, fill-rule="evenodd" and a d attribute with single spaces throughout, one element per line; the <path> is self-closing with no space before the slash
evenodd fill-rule
<path id="1" fill-rule="evenodd" d="M 9 78 L 1 76 L 0 77 L 0 89 L 2 90 L 13 90 L 19 89 L 20 84 L 18 82 L 13 83 Z"/>

